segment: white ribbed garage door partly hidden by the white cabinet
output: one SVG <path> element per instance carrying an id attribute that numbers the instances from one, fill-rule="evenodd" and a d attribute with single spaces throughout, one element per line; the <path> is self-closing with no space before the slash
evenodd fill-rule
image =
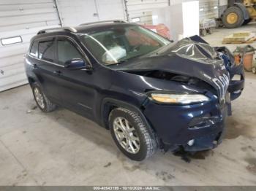
<path id="1" fill-rule="evenodd" d="M 169 0 L 127 0 L 128 19 L 130 22 L 139 20 L 136 23 L 152 24 L 152 10 L 169 4 Z"/>

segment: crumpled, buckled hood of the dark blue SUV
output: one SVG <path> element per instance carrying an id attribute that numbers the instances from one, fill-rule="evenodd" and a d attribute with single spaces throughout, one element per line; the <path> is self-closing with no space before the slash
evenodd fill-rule
<path id="1" fill-rule="evenodd" d="M 198 36 L 198 38 L 200 38 Z M 217 52 L 209 44 L 182 39 L 159 52 L 120 65 L 121 71 L 167 71 L 202 79 L 215 87 L 221 98 L 229 84 L 229 74 Z"/>

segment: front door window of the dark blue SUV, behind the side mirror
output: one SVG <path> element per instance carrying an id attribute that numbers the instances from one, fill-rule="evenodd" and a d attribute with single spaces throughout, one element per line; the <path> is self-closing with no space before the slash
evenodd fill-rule
<path id="1" fill-rule="evenodd" d="M 80 52 L 78 52 L 76 47 L 68 40 L 58 40 L 57 44 L 59 64 L 64 65 L 65 62 L 70 61 L 73 58 L 83 59 L 83 56 L 80 55 Z"/>

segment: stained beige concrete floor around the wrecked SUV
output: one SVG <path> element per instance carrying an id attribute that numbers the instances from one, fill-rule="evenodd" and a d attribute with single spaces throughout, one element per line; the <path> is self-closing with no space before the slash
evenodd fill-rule
<path id="1" fill-rule="evenodd" d="M 241 30 L 255 30 L 255 24 Z M 206 40 L 221 45 L 231 30 Z M 228 47 L 233 48 L 233 45 Z M 29 85 L 0 93 L 1 185 L 256 185 L 256 75 L 246 73 L 233 102 L 223 143 L 191 163 L 158 152 L 134 162 L 118 151 L 108 130 L 66 109 L 45 114 Z"/>

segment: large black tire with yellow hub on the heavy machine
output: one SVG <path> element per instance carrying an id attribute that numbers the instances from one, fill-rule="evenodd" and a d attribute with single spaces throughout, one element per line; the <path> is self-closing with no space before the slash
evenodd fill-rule
<path id="1" fill-rule="evenodd" d="M 222 23 L 227 28 L 237 28 L 244 23 L 244 14 L 238 7 L 230 7 L 222 15 Z"/>

